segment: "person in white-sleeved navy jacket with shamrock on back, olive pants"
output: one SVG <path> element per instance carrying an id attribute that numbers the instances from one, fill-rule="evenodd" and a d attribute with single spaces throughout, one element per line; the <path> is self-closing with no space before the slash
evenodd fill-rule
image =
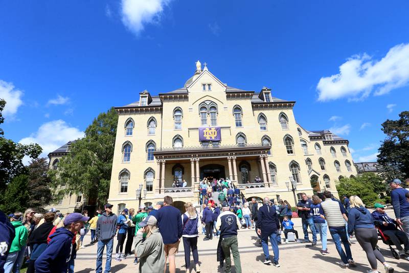
<path id="1" fill-rule="evenodd" d="M 232 251 L 233 254 L 236 273 L 241 273 L 240 253 L 237 241 L 237 229 L 240 228 L 240 220 L 237 215 L 230 212 L 228 202 L 223 202 L 222 209 L 223 212 L 217 217 L 216 228 L 220 230 L 221 248 L 226 261 L 224 273 L 231 273 L 232 271 L 230 251 Z"/>

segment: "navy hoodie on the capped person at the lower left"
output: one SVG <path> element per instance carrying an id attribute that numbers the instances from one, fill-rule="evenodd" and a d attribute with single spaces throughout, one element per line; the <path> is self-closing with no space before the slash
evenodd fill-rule
<path id="1" fill-rule="evenodd" d="M 35 271 L 37 273 L 65 273 L 71 260 L 73 237 L 74 234 L 70 230 L 58 228 L 50 236 L 51 241 L 46 250 L 35 261 Z"/>

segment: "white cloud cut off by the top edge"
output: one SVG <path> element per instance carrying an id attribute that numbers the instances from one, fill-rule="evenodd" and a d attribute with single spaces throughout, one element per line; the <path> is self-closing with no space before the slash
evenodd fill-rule
<path id="1" fill-rule="evenodd" d="M 122 0 L 122 23 L 130 31 L 139 34 L 146 24 L 157 24 L 164 7 L 172 0 Z"/>

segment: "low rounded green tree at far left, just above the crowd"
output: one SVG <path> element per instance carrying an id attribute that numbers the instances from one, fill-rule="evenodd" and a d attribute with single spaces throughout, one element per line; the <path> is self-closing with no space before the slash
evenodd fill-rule
<path id="1" fill-rule="evenodd" d="M 0 205 L 2 211 L 7 214 L 25 211 L 29 200 L 28 181 L 29 177 L 25 174 L 20 174 L 11 180 L 4 193 L 2 205 Z"/>

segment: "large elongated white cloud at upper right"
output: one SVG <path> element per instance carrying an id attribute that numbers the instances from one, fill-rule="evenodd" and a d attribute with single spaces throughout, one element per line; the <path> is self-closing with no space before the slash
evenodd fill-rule
<path id="1" fill-rule="evenodd" d="M 409 83 L 409 44 L 389 50 L 379 61 L 366 53 L 354 55 L 339 67 L 339 74 L 322 77 L 317 85 L 318 100 L 348 97 L 352 100 L 389 93 Z"/>

